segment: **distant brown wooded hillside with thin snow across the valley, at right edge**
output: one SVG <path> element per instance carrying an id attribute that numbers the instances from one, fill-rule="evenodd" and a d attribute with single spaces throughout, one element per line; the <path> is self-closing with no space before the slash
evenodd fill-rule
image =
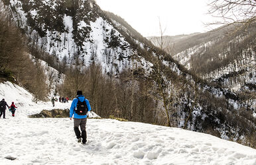
<path id="1" fill-rule="evenodd" d="M 203 79 L 234 91 L 255 91 L 256 26 L 235 28 L 230 25 L 174 42 L 168 42 L 171 37 L 165 36 L 164 48 L 173 47 L 172 57 Z M 155 41 L 160 38 L 151 40 L 157 45 Z"/>

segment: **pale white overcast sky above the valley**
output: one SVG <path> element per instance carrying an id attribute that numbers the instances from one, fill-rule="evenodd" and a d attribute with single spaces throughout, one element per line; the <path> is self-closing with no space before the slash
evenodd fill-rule
<path id="1" fill-rule="evenodd" d="M 191 34 L 210 30 L 204 23 L 212 17 L 208 0 L 96 0 L 104 11 L 124 18 L 143 36 L 160 36 L 159 19 L 164 35 Z"/>

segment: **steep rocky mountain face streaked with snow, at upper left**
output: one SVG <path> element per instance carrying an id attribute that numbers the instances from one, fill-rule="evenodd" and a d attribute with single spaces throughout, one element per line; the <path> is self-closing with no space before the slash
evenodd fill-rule
<path id="1" fill-rule="evenodd" d="M 95 1 L 5 1 L 31 43 L 60 61 L 101 63 L 115 75 L 128 68 L 134 50 Z M 110 57 L 111 54 L 111 57 Z"/>

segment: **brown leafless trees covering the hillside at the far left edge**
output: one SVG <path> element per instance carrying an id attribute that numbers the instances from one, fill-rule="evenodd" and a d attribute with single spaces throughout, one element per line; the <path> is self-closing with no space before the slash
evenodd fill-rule
<path id="1" fill-rule="evenodd" d="M 8 20 L 6 13 L 0 12 L 0 82 L 22 84 L 34 94 L 34 101 L 46 100 L 46 75 L 38 61 L 31 60 L 27 42 L 27 36 Z"/>

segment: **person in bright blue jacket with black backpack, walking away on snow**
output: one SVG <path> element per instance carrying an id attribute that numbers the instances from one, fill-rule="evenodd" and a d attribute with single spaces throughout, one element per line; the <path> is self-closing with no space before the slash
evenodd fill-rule
<path id="1" fill-rule="evenodd" d="M 76 138 L 78 143 L 85 145 L 87 142 L 86 135 L 86 121 L 87 121 L 87 112 L 91 110 L 89 101 L 84 98 L 82 91 L 78 90 L 76 98 L 73 100 L 70 107 L 70 119 L 74 114 L 74 131 L 76 133 Z M 82 133 L 79 130 L 79 125 Z M 82 139 L 81 139 L 82 138 Z"/>

